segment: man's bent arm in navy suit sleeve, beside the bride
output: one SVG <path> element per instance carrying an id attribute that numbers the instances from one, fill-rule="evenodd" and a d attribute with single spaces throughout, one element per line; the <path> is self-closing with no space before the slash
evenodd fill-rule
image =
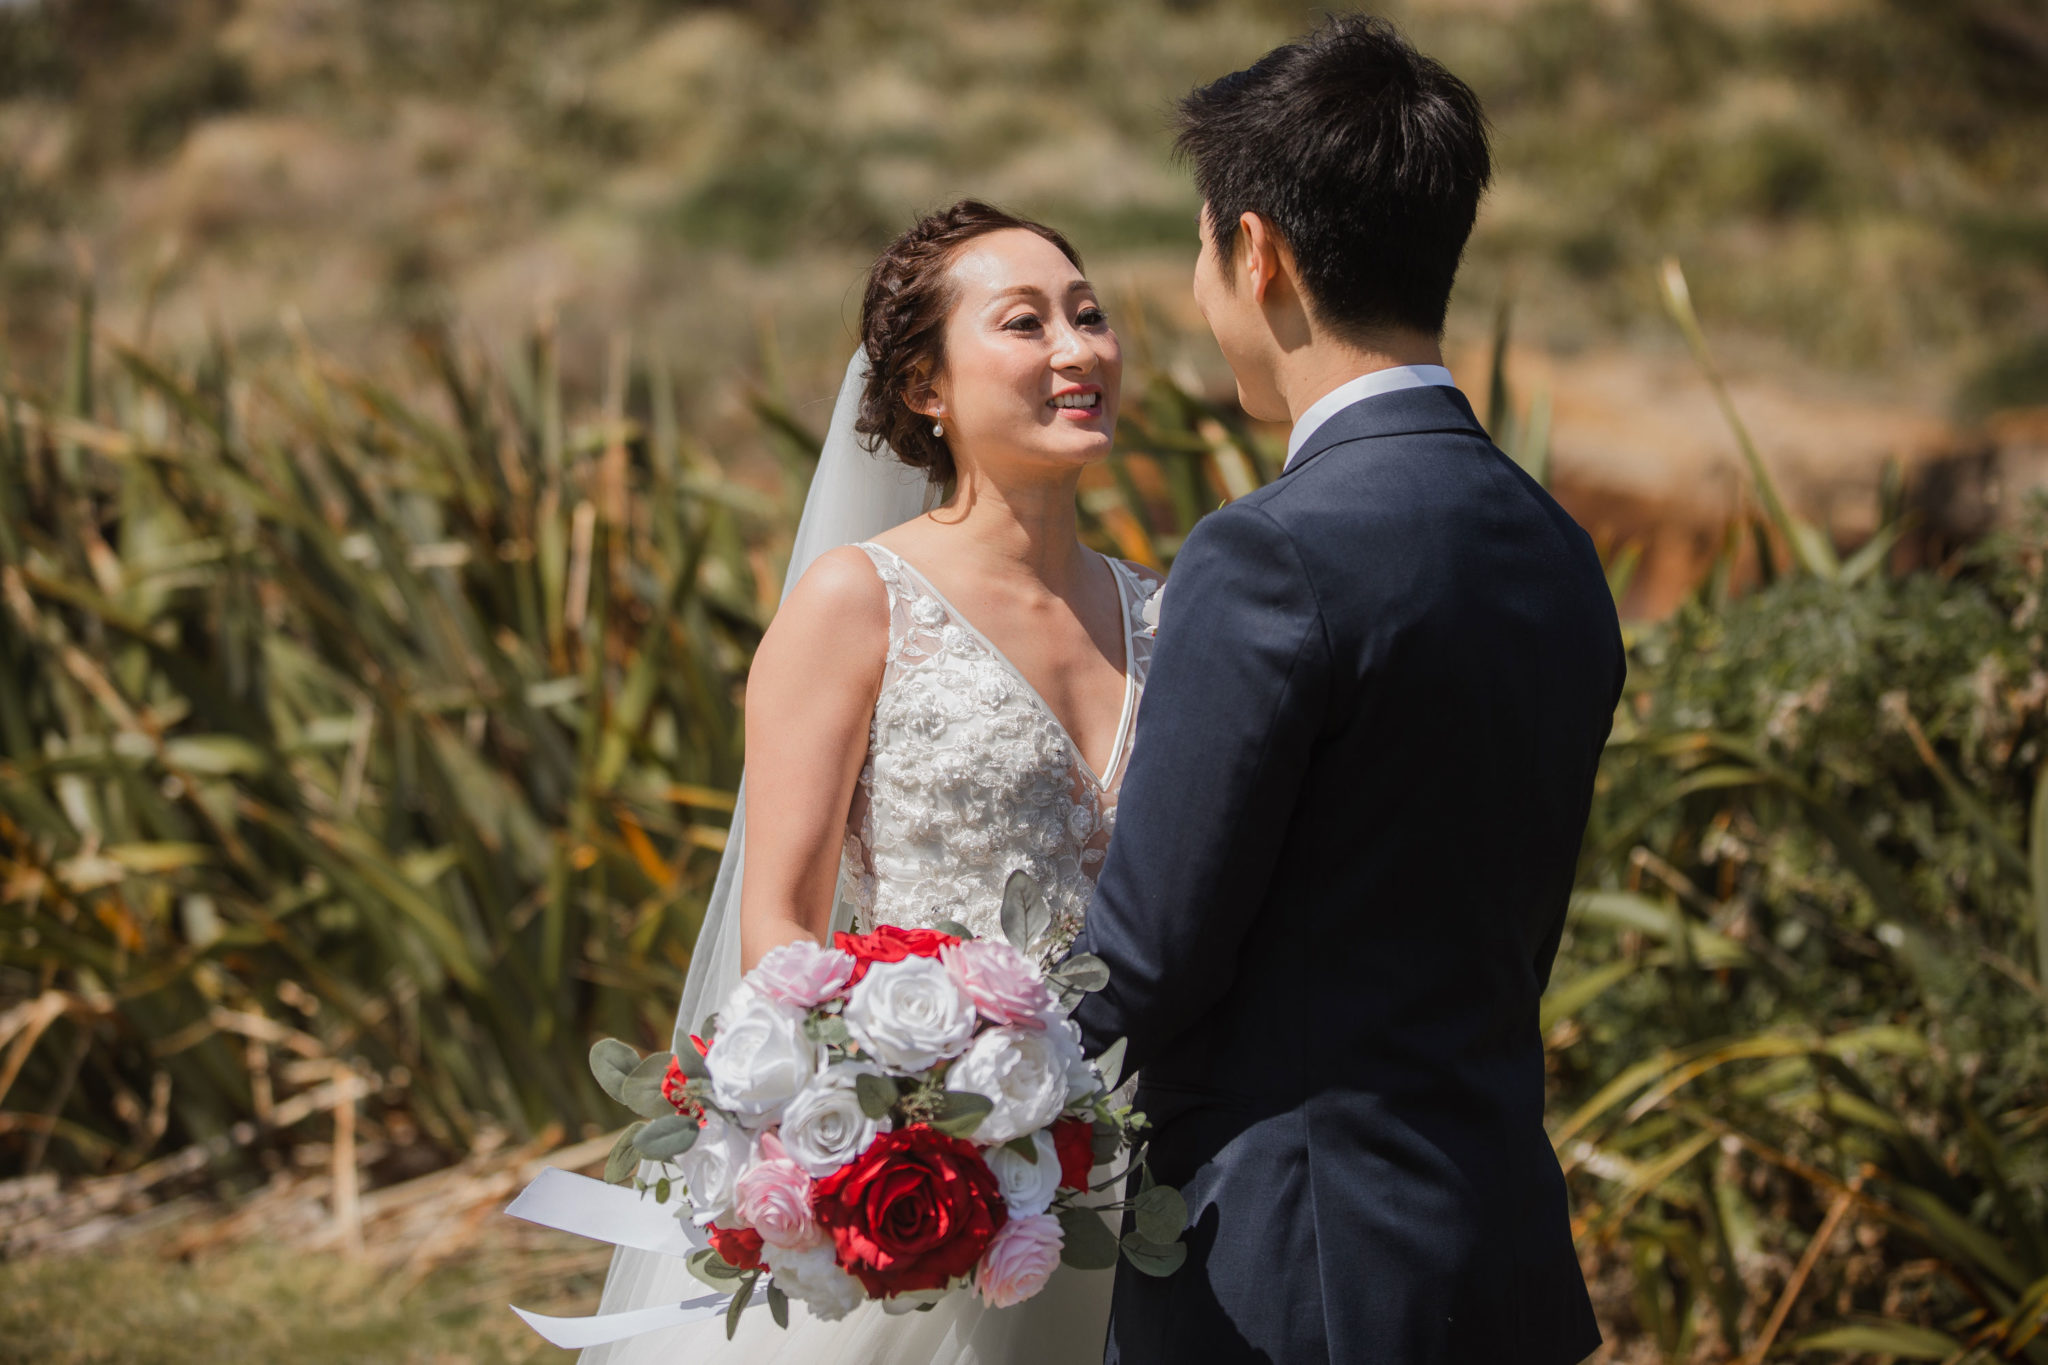
<path id="1" fill-rule="evenodd" d="M 1110 966 L 1075 1021 L 1124 1072 L 1214 1005 L 1266 900 L 1331 681 L 1288 534 L 1257 505 L 1202 520 L 1159 612 L 1116 837 L 1077 952 Z"/>

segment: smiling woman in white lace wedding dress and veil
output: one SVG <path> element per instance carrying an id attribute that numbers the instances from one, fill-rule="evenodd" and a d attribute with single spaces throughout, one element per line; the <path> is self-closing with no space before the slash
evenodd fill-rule
<path id="1" fill-rule="evenodd" d="M 860 336 L 748 681 L 745 814 L 684 988 L 690 1027 L 766 952 L 848 913 L 858 931 L 952 919 L 999 937 L 1018 868 L 1071 939 L 1116 817 L 1159 581 L 1075 528 L 1122 379 L 1079 258 L 963 201 L 874 262 Z M 920 514 L 936 489 L 950 495 Z M 1061 1267 L 1016 1308 L 954 1293 L 840 1322 L 795 1302 L 786 1330 L 756 1308 L 731 1342 L 721 1316 L 584 1361 L 1079 1365 L 1102 1357 L 1110 1283 Z M 621 1250 L 602 1312 L 700 1291 L 680 1261 Z"/>

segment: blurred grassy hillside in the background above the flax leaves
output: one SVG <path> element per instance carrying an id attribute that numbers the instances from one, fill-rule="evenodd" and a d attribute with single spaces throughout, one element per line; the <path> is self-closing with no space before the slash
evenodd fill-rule
<path id="1" fill-rule="evenodd" d="M 1454 329 L 1665 340 L 1679 252 L 1745 346 L 1964 407 L 2048 401 L 2048 0 L 1399 0 L 1495 121 Z M 76 248 L 131 338 L 365 360 L 451 307 L 678 344 L 711 399 L 772 315 L 836 375 L 868 254 L 961 192 L 1196 325 L 1167 108 L 1296 0 L 31 0 L 0 6 L 0 297 L 55 372 Z M 133 301 L 154 299 L 137 305 Z M 154 313 L 152 313 L 154 309 Z M 1161 356 L 1221 381 L 1202 346 Z M 729 434 L 743 432 L 723 411 Z"/>

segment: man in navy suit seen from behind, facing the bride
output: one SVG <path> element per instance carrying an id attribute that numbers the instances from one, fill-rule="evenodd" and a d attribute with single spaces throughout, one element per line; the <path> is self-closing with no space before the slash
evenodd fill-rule
<path id="1" fill-rule="evenodd" d="M 1485 117 L 1348 16 L 1190 94 L 1180 147 L 1196 301 L 1292 434 L 1174 565 L 1077 943 L 1190 1209 L 1108 1359 L 1569 1365 L 1536 1001 L 1624 663 L 1585 532 L 1442 368 Z"/>

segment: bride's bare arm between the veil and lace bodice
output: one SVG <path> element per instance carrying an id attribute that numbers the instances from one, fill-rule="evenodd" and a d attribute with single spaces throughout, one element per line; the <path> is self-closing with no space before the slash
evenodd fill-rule
<path id="1" fill-rule="evenodd" d="M 889 598 L 854 546 L 821 555 L 762 636 L 748 675 L 741 970 L 831 927 L 887 647 Z"/>

